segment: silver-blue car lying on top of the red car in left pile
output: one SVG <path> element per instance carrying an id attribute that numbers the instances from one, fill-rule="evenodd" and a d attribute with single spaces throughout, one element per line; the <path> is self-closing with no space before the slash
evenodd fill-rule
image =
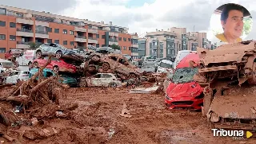
<path id="1" fill-rule="evenodd" d="M 45 43 L 40 45 L 39 48 L 36 49 L 37 58 L 49 55 L 54 55 L 58 59 L 65 57 L 78 61 L 84 60 L 84 57 L 79 55 L 78 53 L 74 53 L 72 50 L 66 49 L 66 47 L 55 43 Z"/>

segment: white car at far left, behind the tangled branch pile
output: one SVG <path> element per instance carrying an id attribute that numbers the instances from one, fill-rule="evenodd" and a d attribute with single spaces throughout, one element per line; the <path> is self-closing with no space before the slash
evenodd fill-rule
<path id="1" fill-rule="evenodd" d="M 6 84 L 16 84 L 19 80 L 29 80 L 29 71 L 14 71 L 6 78 Z"/>

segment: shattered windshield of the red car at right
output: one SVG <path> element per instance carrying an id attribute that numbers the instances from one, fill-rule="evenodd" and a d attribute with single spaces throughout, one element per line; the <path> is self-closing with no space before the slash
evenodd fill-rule
<path id="1" fill-rule="evenodd" d="M 194 74 L 198 73 L 198 68 L 178 68 L 174 72 L 172 81 L 174 83 L 188 83 L 194 81 Z"/>

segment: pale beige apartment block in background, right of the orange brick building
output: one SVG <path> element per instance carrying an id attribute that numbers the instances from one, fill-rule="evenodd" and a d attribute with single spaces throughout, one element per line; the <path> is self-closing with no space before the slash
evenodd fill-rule
<path id="1" fill-rule="evenodd" d="M 197 50 L 197 47 L 208 48 L 210 41 L 206 33 L 186 33 L 186 28 L 172 27 L 167 31 L 156 29 L 146 33 L 138 40 L 138 56 L 155 56 L 171 58 L 180 50 Z M 145 53 L 144 53 L 145 52 Z"/>

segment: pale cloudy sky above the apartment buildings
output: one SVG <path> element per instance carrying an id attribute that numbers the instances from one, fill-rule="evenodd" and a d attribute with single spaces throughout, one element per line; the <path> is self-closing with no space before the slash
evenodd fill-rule
<path id="1" fill-rule="evenodd" d="M 207 38 L 214 41 L 210 30 L 211 16 L 218 6 L 230 2 L 246 7 L 253 20 L 256 19 L 255 0 L 3 0 L 0 4 L 89 21 L 112 21 L 113 25 L 128 27 L 129 33 L 138 33 L 139 37 L 156 29 L 186 27 L 187 32 L 206 32 Z M 213 21 L 211 25 L 214 25 Z M 246 40 L 251 39 L 256 39 L 254 25 L 246 37 Z"/>

